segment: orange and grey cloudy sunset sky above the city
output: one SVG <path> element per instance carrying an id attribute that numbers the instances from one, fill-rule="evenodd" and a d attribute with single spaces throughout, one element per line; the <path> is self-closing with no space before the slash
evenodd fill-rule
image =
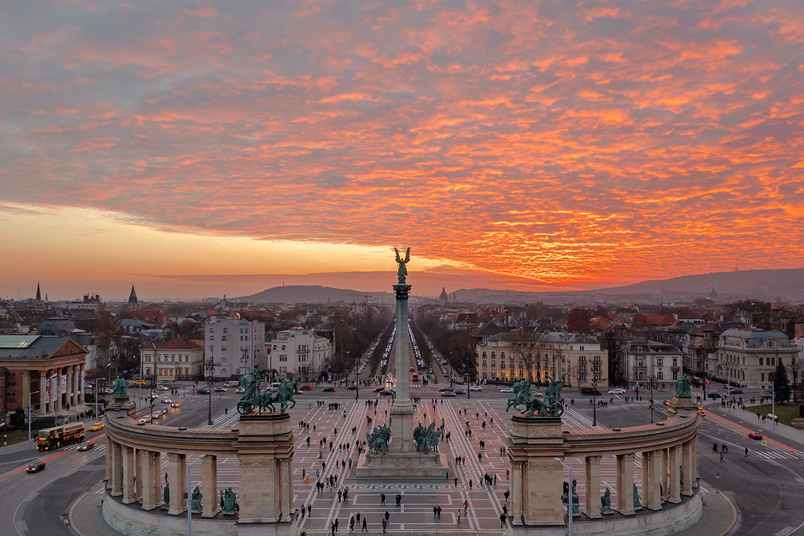
<path id="1" fill-rule="evenodd" d="M 804 267 L 804 2 L 4 2 L 0 297 Z"/>

